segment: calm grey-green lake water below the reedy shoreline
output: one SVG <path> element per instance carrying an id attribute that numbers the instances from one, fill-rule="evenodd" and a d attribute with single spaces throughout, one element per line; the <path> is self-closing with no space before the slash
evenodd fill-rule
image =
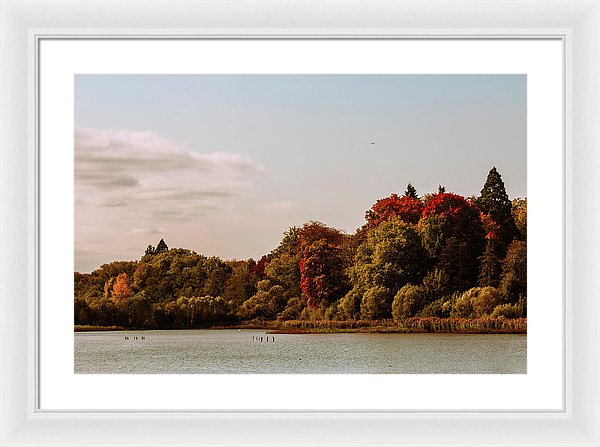
<path id="1" fill-rule="evenodd" d="M 269 336 L 268 342 L 265 341 L 267 336 Z M 263 341 L 256 341 L 260 337 Z M 272 341 L 273 337 L 275 342 Z M 75 333 L 75 373 L 524 374 L 526 372 L 527 337 L 525 335 L 270 335 L 260 330 L 239 331 L 237 329 Z"/>

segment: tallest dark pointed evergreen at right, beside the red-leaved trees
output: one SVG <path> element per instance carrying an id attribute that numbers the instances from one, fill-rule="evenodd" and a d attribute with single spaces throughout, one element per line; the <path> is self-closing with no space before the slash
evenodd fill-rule
<path id="1" fill-rule="evenodd" d="M 498 248 L 500 257 L 503 257 L 506 249 L 517 235 L 517 226 L 504 182 L 495 166 L 490 170 L 476 204 L 481 211 L 489 214 L 492 220 L 500 226 Z"/>

